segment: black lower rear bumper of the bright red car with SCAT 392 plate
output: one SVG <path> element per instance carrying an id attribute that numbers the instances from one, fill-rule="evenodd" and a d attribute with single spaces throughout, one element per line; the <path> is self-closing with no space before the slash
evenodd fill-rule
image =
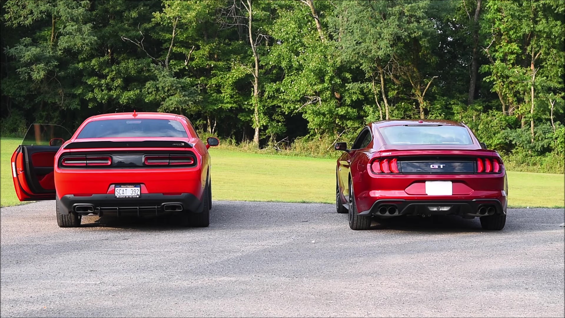
<path id="1" fill-rule="evenodd" d="M 176 209 L 171 210 L 166 206 Z M 173 211 L 201 213 L 202 209 L 202 201 L 190 193 L 181 195 L 141 194 L 140 197 L 115 197 L 114 194 L 64 195 L 59 200 L 59 212 L 62 214 L 75 211 L 97 214 L 116 213 L 119 216 L 121 213 L 140 215 Z"/>

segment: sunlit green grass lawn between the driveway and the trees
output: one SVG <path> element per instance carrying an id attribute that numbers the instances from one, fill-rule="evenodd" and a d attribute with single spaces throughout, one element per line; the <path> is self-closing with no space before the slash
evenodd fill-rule
<path id="1" fill-rule="evenodd" d="M 18 204 L 10 157 L 19 139 L 2 138 L 1 204 Z M 214 200 L 334 203 L 335 160 L 211 148 Z M 512 172 L 511 207 L 563 207 L 564 176 Z"/>

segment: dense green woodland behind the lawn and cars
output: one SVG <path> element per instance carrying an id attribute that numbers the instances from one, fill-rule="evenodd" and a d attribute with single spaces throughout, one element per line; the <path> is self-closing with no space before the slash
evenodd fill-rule
<path id="1" fill-rule="evenodd" d="M 0 4 L 3 136 L 135 109 L 323 153 L 367 122 L 442 118 L 516 165 L 563 171 L 560 0 Z"/>

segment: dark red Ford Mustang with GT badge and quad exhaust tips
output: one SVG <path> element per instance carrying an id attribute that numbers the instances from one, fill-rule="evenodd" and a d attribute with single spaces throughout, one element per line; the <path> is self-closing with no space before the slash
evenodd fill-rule
<path id="1" fill-rule="evenodd" d="M 381 121 L 364 127 L 337 160 L 336 207 L 349 226 L 371 217 L 455 214 L 479 217 L 486 230 L 506 223 L 508 182 L 501 157 L 464 124 Z"/>

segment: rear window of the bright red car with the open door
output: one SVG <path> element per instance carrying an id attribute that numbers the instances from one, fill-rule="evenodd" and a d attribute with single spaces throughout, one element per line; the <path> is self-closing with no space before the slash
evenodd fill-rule
<path id="1" fill-rule="evenodd" d="M 77 139 L 108 137 L 188 137 L 182 124 L 168 119 L 106 119 L 86 124 Z"/>

